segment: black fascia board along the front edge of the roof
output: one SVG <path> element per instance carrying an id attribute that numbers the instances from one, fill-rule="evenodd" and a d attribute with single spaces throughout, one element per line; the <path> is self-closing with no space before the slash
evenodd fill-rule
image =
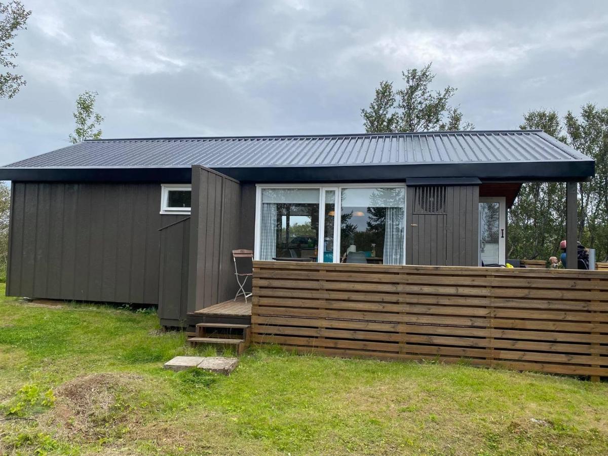
<path id="1" fill-rule="evenodd" d="M 472 162 L 302 167 L 213 167 L 238 181 L 373 182 L 407 178 L 478 178 L 483 181 L 586 181 L 595 161 Z M 190 182 L 191 167 L 5 167 L 4 181 Z"/>

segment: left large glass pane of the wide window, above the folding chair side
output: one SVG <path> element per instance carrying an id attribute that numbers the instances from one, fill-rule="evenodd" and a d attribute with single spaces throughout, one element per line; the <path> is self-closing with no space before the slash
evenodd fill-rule
<path id="1" fill-rule="evenodd" d="M 319 238 L 318 188 L 264 188 L 260 260 L 310 258 Z"/>

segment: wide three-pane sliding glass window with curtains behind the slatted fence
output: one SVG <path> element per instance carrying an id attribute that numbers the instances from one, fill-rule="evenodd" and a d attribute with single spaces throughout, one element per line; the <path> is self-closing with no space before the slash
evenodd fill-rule
<path id="1" fill-rule="evenodd" d="M 405 188 L 258 188 L 256 257 L 403 264 Z"/>

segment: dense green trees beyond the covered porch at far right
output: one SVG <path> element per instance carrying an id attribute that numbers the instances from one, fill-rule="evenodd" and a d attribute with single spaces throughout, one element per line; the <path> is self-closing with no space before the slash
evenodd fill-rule
<path id="1" fill-rule="evenodd" d="M 596 161 L 595 178 L 578 185 L 578 239 L 596 249 L 596 260 L 608 259 L 608 109 L 587 104 L 578 119 L 568 111 L 539 109 L 524 116 L 522 129 L 539 128 Z M 508 256 L 548 258 L 565 238 L 565 185 L 523 184 L 509 211 Z"/>

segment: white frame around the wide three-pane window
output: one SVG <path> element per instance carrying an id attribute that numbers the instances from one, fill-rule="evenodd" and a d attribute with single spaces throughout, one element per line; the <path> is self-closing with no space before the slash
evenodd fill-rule
<path id="1" fill-rule="evenodd" d="M 324 231 L 325 219 L 321 217 L 321 212 L 323 210 L 323 214 L 325 214 L 325 191 L 326 190 L 335 190 L 336 191 L 336 209 L 335 209 L 335 220 L 334 222 L 334 255 L 333 255 L 333 263 L 340 263 L 340 220 L 342 213 L 342 190 L 344 188 L 402 188 L 403 189 L 403 263 L 406 264 L 406 243 L 407 243 L 407 188 L 406 184 L 403 183 L 384 183 L 384 182 L 371 182 L 371 183 L 353 183 L 353 184 L 336 184 L 336 183 L 327 183 L 327 184 L 256 184 L 255 185 L 255 228 L 254 228 L 254 260 L 260 260 L 260 236 L 261 236 L 261 210 L 262 210 L 262 190 L 266 188 L 317 188 L 319 189 L 319 238 L 322 237 Z M 319 240 L 317 240 L 317 246 L 323 245 L 319 244 Z M 319 249 L 317 261 L 322 260 L 322 249 Z M 319 261 L 322 263 L 322 261 Z M 333 264 L 326 263 L 326 264 Z"/>

